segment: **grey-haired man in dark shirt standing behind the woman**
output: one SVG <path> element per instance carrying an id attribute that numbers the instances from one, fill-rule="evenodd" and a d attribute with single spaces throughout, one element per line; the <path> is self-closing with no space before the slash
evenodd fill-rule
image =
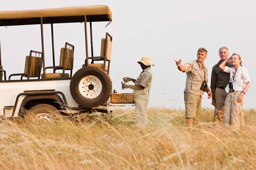
<path id="1" fill-rule="evenodd" d="M 220 65 L 230 54 L 227 47 L 221 47 L 218 50 L 221 60 L 212 67 L 211 72 L 211 92 L 212 92 L 212 102 L 211 104 L 215 106 L 214 109 L 214 122 L 221 123 L 223 118 L 223 106 L 227 97 L 227 92 L 225 88 L 230 81 L 230 74 L 223 72 L 218 65 Z M 232 67 L 230 64 L 226 64 L 228 67 Z"/>

